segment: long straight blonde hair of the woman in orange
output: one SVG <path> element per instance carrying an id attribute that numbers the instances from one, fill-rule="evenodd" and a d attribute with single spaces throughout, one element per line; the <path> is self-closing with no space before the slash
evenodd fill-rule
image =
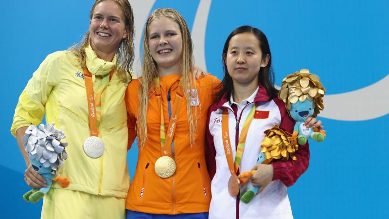
<path id="1" fill-rule="evenodd" d="M 195 113 L 192 112 L 190 100 L 188 98 L 187 91 L 191 88 L 195 88 L 194 80 L 192 79 L 192 72 L 194 69 L 193 61 L 193 43 L 191 34 L 189 32 L 188 25 L 186 24 L 184 18 L 174 9 L 171 8 L 159 8 L 156 9 L 146 22 L 146 27 L 144 29 L 143 35 L 143 65 L 142 65 L 142 78 L 141 78 L 141 87 L 139 88 L 139 110 L 137 118 L 137 133 L 139 139 L 139 146 L 143 148 L 144 143 L 147 139 L 147 105 L 149 94 L 155 91 L 153 78 L 158 77 L 157 72 L 157 63 L 153 60 L 153 57 L 150 54 L 149 49 L 149 27 L 150 24 L 160 18 L 165 17 L 169 18 L 172 21 L 176 22 L 179 26 L 181 36 L 182 36 L 182 61 L 181 61 L 181 73 L 182 73 L 182 82 L 184 95 L 186 97 L 186 108 L 189 122 L 189 136 L 190 136 L 190 146 L 195 144 L 195 130 L 197 123 L 194 121 L 194 116 L 197 116 L 196 108 Z"/>

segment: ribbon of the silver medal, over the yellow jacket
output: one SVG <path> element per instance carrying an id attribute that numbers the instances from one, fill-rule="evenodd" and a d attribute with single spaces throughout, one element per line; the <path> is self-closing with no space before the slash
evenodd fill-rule
<path id="1" fill-rule="evenodd" d="M 103 75 L 103 79 L 97 88 L 96 98 L 93 92 L 92 74 L 88 69 L 84 68 L 85 88 L 87 90 L 88 99 L 88 117 L 89 117 L 89 131 L 90 136 L 99 136 L 100 120 L 101 120 L 101 94 L 106 90 L 111 77 L 113 69 L 110 73 Z"/>

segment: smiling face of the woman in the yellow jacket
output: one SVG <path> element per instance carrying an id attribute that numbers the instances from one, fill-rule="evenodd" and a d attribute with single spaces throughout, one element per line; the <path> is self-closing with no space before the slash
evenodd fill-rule
<path id="1" fill-rule="evenodd" d="M 89 36 L 96 54 L 116 53 L 121 40 L 127 37 L 124 12 L 119 4 L 105 0 L 96 5 L 89 22 Z"/>

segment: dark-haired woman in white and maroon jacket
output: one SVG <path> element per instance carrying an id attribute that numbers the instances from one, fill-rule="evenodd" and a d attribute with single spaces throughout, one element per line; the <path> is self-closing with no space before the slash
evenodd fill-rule
<path id="1" fill-rule="evenodd" d="M 293 218 L 286 186 L 295 183 L 308 168 L 308 144 L 299 146 L 295 153 L 297 161 L 256 164 L 264 131 L 279 125 L 292 133 L 295 124 L 283 101 L 277 98 L 278 91 L 273 87 L 271 53 L 265 34 L 250 26 L 235 29 L 224 45 L 223 64 L 224 85 L 219 92 L 218 101 L 208 112 L 206 127 L 205 154 L 212 179 L 209 218 Z M 246 146 L 237 174 L 256 169 L 248 182 L 248 188 L 261 186 L 263 190 L 246 204 L 239 200 L 239 195 L 231 197 L 228 192 L 231 173 L 223 145 L 227 132 L 222 133 L 222 114 L 223 109 L 227 109 L 230 149 L 235 158 L 239 136 L 253 105 L 254 118 L 247 132 Z M 311 121 L 311 126 L 319 126 L 321 123 L 315 123 L 315 119 L 308 121 Z"/>

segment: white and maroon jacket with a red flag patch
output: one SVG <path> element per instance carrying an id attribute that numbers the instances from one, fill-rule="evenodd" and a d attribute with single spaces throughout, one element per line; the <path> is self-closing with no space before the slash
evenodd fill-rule
<path id="1" fill-rule="evenodd" d="M 258 92 L 253 101 L 249 101 L 246 107 L 237 116 L 236 106 L 231 107 L 228 97 L 213 104 L 208 112 L 208 124 L 206 127 L 205 155 L 207 167 L 211 176 L 212 200 L 209 211 L 210 219 L 290 219 L 293 218 L 288 199 L 286 186 L 291 186 L 301 174 L 308 168 L 309 146 L 299 146 L 295 156 L 297 161 L 273 162 L 273 181 L 254 197 L 248 204 L 233 198 L 228 192 L 228 180 L 230 171 L 227 164 L 224 146 L 222 142 L 221 117 L 223 108 L 229 109 L 229 131 L 232 148 L 232 156 L 235 159 L 238 136 L 242 131 L 245 119 L 248 116 L 252 104 L 258 103 L 256 110 L 269 111 L 268 118 L 254 118 L 248 130 L 246 146 L 243 152 L 239 172 L 250 171 L 257 163 L 261 149 L 261 142 L 265 136 L 264 131 L 279 125 L 283 130 L 292 133 L 294 120 L 289 116 L 283 101 L 277 97 L 270 99 L 265 88 L 259 85 Z M 239 119 L 236 119 L 239 118 Z M 238 124 L 238 125 L 236 125 Z M 238 127 L 237 129 L 235 127 Z M 248 182 L 247 188 L 252 185 Z M 241 192 L 244 189 L 241 188 Z"/>

